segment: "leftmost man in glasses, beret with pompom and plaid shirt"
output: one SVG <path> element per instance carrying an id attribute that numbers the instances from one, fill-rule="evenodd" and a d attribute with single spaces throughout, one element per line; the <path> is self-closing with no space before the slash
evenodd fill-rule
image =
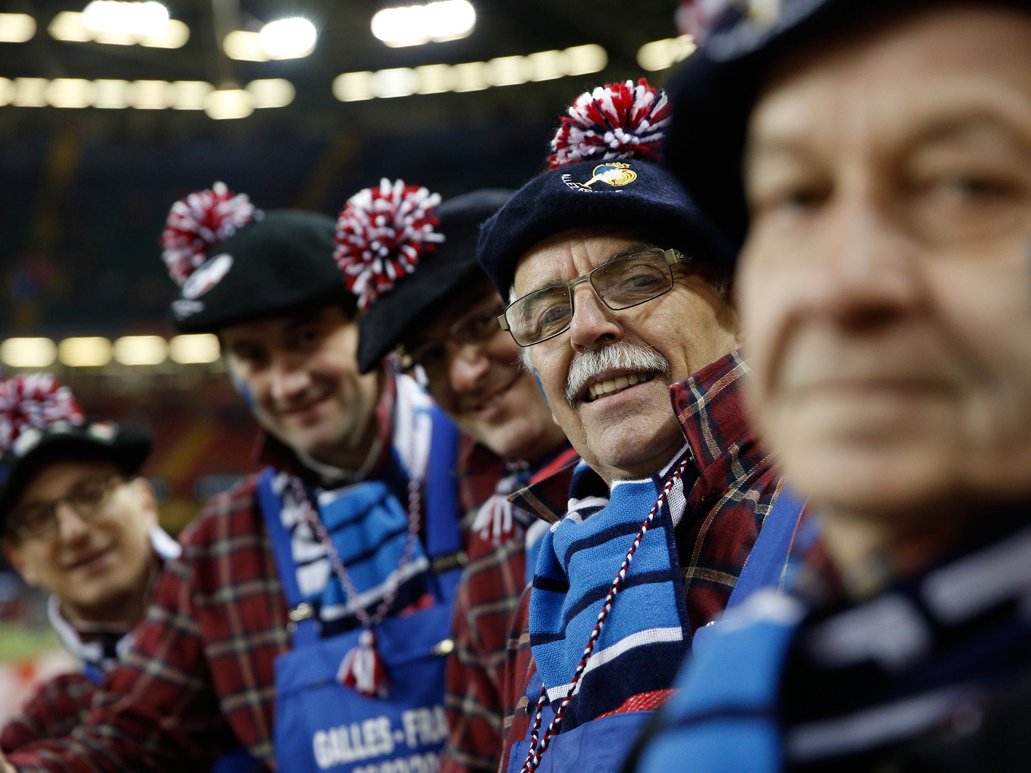
<path id="1" fill-rule="evenodd" d="M 30 585 L 82 671 L 41 685 L 3 731 L 0 748 L 68 733 L 119 652 L 132 643 L 154 580 L 178 543 L 158 527 L 139 474 L 151 450 L 137 425 L 87 422 L 47 373 L 0 381 L 0 530 L 4 553 Z"/>

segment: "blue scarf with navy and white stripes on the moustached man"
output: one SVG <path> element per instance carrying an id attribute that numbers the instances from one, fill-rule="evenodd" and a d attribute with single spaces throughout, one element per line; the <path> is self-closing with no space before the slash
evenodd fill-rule
<path id="1" fill-rule="evenodd" d="M 687 447 L 661 473 L 617 481 L 611 491 L 586 464 L 573 475 L 566 516 L 541 540 L 530 597 L 530 645 L 548 700 L 557 704 L 584 654 L 604 598 L 630 544 Z M 695 472 L 677 481 L 656 514 L 595 646 L 563 729 L 670 686 L 690 640 L 673 529 Z"/>

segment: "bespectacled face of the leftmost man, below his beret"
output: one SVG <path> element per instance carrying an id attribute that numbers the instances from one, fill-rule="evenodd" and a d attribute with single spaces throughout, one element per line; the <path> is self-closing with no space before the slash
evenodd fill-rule
<path id="1" fill-rule="evenodd" d="M 143 478 L 125 480 L 108 462 L 46 465 L 11 507 L 8 528 L 36 533 L 7 545 L 25 580 L 58 597 L 65 613 L 95 623 L 125 620 L 149 576 L 157 503 Z"/>

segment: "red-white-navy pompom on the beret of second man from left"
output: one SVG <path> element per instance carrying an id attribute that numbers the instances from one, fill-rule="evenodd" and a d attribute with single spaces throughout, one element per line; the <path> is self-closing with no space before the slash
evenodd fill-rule
<path id="1" fill-rule="evenodd" d="M 194 191 L 172 204 L 161 235 L 161 257 L 180 288 L 204 263 L 204 254 L 251 221 L 261 217 L 246 194 L 234 194 L 225 182 Z"/>

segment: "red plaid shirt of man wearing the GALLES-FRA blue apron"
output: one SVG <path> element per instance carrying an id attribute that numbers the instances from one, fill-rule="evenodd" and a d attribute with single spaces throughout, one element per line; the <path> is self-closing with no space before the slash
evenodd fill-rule
<path id="1" fill-rule="evenodd" d="M 277 443 L 265 451 L 303 472 Z M 274 662 L 291 640 L 257 479 L 214 497 L 187 528 L 94 710 L 66 737 L 10 754 L 20 771 L 207 770 L 240 744 L 275 770 Z"/>

